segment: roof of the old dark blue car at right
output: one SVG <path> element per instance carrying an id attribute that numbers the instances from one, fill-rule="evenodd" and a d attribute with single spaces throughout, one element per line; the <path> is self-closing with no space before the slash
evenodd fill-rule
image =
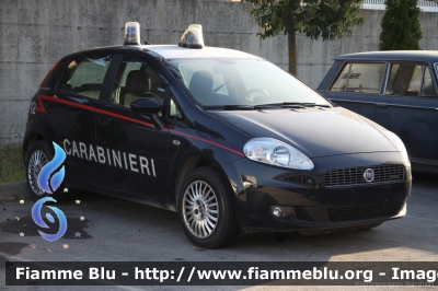
<path id="1" fill-rule="evenodd" d="M 418 60 L 438 61 L 438 50 L 387 50 L 342 55 L 335 60 Z"/>

